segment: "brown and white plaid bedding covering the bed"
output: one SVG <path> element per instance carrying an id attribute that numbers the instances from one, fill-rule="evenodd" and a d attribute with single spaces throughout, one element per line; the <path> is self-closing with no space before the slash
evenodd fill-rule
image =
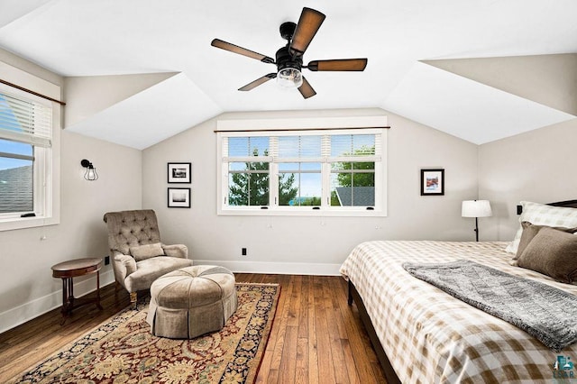
<path id="1" fill-rule="evenodd" d="M 512 255 L 504 251 L 507 244 L 363 242 L 343 262 L 341 273 L 361 295 L 401 382 L 550 383 L 577 376 L 577 367 L 554 370 L 560 359 L 577 361 L 577 344 L 553 352 L 515 325 L 413 278 L 401 266 L 405 261 L 467 259 L 577 295 L 577 286 L 509 265 Z"/>

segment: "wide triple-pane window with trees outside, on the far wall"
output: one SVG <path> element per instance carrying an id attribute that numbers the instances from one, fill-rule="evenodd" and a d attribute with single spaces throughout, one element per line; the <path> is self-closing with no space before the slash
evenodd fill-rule
<path id="1" fill-rule="evenodd" d="M 386 215 L 382 128 L 218 133 L 221 215 Z"/>

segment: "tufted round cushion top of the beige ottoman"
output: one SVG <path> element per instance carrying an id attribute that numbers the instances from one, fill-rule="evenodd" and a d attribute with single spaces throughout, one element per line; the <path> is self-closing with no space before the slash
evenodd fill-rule
<path id="1" fill-rule="evenodd" d="M 197 265 L 160 276 L 151 285 L 158 306 L 184 309 L 206 306 L 233 294 L 234 274 L 223 267 Z"/>

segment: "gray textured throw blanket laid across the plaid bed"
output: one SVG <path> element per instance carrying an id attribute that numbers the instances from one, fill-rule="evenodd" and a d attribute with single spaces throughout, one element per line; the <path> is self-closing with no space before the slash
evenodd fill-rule
<path id="1" fill-rule="evenodd" d="M 560 352 L 577 342 L 577 297 L 473 261 L 406 262 L 403 268 L 465 303 L 507 321 Z"/>

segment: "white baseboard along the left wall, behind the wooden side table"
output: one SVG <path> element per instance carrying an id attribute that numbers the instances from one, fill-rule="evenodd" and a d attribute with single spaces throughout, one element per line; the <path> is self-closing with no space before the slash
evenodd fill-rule
<path id="1" fill-rule="evenodd" d="M 113 270 L 100 272 L 100 287 L 114 282 Z M 96 275 L 82 281 L 75 282 L 74 296 L 82 297 L 96 290 Z M 52 292 L 50 295 L 36 298 L 22 306 L 16 306 L 0 314 L 0 334 L 26 323 L 33 318 L 45 314 L 54 308 L 62 306 L 62 291 Z"/>

